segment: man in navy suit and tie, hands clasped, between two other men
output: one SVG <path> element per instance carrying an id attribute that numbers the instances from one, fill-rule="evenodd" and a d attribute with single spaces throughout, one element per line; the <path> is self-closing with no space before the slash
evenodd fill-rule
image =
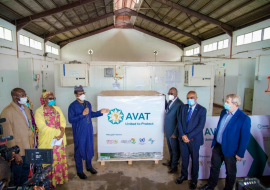
<path id="1" fill-rule="evenodd" d="M 181 177 L 175 183 L 181 184 L 188 178 L 189 158 L 192 159 L 190 189 L 197 188 L 199 173 L 199 150 L 203 145 L 203 128 L 206 122 L 206 109 L 197 103 L 197 93 L 187 94 L 187 103 L 181 106 L 178 116 L 178 130 L 182 157 Z"/>

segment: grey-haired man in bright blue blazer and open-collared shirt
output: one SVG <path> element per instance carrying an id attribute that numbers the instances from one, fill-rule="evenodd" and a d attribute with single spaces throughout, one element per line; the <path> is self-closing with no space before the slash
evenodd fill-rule
<path id="1" fill-rule="evenodd" d="M 240 161 L 250 139 L 250 118 L 238 107 L 241 99 L 237 94 L 226 97 L 224 110 L 221 111 L 217 130 L 212 142 L 211 169 L 208 183 L 200 190 L 213 190 L 217 186 L 222 162 L 226 167 L 224 190 L 232 190 L 236 178 L 236 162 Z"/>

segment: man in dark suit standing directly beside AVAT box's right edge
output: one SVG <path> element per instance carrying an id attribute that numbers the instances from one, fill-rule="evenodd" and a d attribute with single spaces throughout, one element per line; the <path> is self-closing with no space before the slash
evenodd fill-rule
<path id="1" fill-rule="evenodd" d="M 180 157 L 177 116 L 179 114 L 180 106 L 183 105 L 183 102 L 177 97 L 178 92 L 176 88 L 171 88 L 168 92 L 168 95 L 169 102 L 166 106 L 164 123 L 167 145 L 170 153 L 170 161 L 168 163 L 163 163 L 163 165 L 170 167 L 168 173 L 175 173 L 177 172 L 177 165 Z"/>

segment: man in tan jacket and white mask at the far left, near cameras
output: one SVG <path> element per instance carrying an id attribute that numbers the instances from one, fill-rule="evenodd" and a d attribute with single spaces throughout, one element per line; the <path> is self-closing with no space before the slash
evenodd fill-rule
<path id="1" fill-rule="evenodd" d="M 1 118 L 6 118 L 3 125 L 3 135 L 13 136 L 6 146 L 19 146 L 20 153 L 14 155 L 11 162 L 11 172 L 14 174 L 14 185 L 20 186 L 28 180 L 30 165 L 25 164 L 25 149 L 32 148 L 32 119 L 27 103 L 26 93 L 21 88 L 11 91 L 12 102 L 3 109 Z"/>

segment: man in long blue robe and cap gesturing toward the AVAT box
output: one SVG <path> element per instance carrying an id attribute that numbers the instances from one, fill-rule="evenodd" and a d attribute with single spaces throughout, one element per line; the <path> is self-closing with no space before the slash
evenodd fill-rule
<path id="1" fill-rule="evenodd" d="M 75 86 L 74 94 L 76 100 L 68 108 L 68 121 L 72 124 L 74 141 L 74 158 L 76 163 L 77 175 L 81 179 L 87 176 L 83 173 L 82 160 L 86 160 L 86 170 L 92 174 L 97 171 L 92 167 L 92 158 L 94 156 L 94 136 L 92 118 L 100 117 L 108 113 L 109 109 L 102 109 L 97 112 L 92 111 L 90 102 L 85 100 L 83 87 Z"/>

